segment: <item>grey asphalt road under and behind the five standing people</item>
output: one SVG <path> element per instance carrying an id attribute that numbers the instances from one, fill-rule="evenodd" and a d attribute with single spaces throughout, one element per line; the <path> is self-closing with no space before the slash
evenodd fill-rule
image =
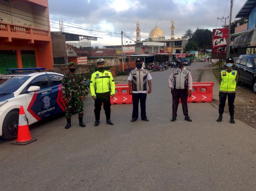
<path id="1" fill-rule="evenodd" d="M 193 63 L 194 82 L 200 76 Z M 0 142 L 0 189 L 5 190 L 255 190 L 256 132 L 210 103 L 189 103 L 184 121 L 181 105 L 171 122 L 168 77 L 172 69 L 152 72 L 147 118 L 131 123 L 132 105 L 112 105 L 113 126 L 94 126 L 94 101 L 84 101 L 84 122 L 73 115 L 34 125 L 38 140 L 25 146 Z"/>

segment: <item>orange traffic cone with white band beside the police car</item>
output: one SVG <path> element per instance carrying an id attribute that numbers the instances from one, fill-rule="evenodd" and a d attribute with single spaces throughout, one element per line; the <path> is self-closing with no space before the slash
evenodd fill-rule
<path id="1" fill-rule="evenodd" d="M 25 145 L 28 143 L 31 143 L 33 141 L 36 141 L 37 139 L 32 139 L 30 136 L 29 128 L 28 128 L 28 123 L 27 123 L 27 118 L 24 112 L 24 108 L 21 105 L 19 107 L 19 125 L 18 125 L 18 137 L 15 142 L 12 144 L 20 144 L 20 145 Z"/>

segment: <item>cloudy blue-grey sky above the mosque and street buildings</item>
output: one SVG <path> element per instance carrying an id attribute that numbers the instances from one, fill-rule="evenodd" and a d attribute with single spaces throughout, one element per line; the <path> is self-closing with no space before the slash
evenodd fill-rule
<path id="1" fill-rule="evenodd" d="M 238 20 L 235 17 L 246 1 L 233 0 L 231 22 Z M 48 6 L 51 31 L 59 31 L 62 20 L 65 32 L 99 37 L 91 46 L 100 48 L 121 45 L 121 31 L 135 41 L 137 21 L 145 40 L 156 23 L 170 39 L 172 18 L 175 37 L 188 29 L 221 28 L 225 19 L 217 18 L 230 18 L 230 0 L 48 0 Z M 123 37 L 123 44 L 134 44 L 131 39 Z"/>

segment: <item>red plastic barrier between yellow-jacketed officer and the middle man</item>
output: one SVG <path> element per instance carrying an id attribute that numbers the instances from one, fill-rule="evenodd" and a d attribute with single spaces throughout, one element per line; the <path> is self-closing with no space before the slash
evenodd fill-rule
<path id="1" fill-rule="evenodd" d="M 132 95 L 129 94 L 128 84 L 116 84 L 115 96 L 110 99 L 111 104 L 132 104 Z"/>

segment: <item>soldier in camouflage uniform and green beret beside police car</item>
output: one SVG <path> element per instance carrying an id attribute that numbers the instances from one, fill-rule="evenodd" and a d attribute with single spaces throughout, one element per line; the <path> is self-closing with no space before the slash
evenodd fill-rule
<path id="1" fill-rule="evenodd" d="M 63 76 L 62 80 L 62 95 L 63 100 L 66 103 L 66 118 L 67 125 L 66 129 L 71 127 L 71 111 L 72 111 L 72 99 L 74 100 L 74 104 L 78 109 L 78 119 L 79 125 L 81 127 L 85 127 L 83 123 L 83 100 L 86 95 L 85 87 L 84 87 L 84 77 L 75 72 L 75 63 L 68 63 L 69 73 Z"/>

